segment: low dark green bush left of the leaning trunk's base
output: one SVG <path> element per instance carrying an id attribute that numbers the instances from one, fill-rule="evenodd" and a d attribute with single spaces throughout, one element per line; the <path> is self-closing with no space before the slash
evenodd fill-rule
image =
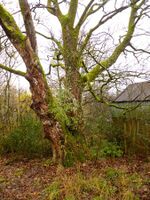
<path id="1" fill-rule="evenodd" d="M 50 145 L 43 139 L 39 120 L 28 114 L 24 116 L 18 127 L 0 138 L 0 152 L 25 156 L 44 155 L 50 152 Z"/>

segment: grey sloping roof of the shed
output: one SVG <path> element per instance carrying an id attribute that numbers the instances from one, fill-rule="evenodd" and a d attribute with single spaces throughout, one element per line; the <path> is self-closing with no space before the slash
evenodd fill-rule
<path id="1" fill-rule="evenodd" d="M 150 81 L 129 85 L 114 102 L 143 102 L 150 101 Z"/>

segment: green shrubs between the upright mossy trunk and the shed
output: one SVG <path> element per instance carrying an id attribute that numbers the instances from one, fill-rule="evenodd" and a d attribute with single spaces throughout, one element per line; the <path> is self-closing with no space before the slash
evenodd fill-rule
<path id="1" fill-rule="evenodd" d="M 112 124 L 109 108 L 93 102 L 87 109 L 90 109 L 91 114 L 86 118 L 85 135 L 91 158 L 121 157 L 123 155 L 120 146 L 122 138 L 119 129 Z"/>

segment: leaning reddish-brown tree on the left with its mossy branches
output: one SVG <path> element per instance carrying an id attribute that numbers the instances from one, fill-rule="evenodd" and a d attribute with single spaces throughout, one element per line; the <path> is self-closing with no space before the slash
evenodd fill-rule
<path id="1" fill-rule="evenodd" d="M 29 81 L 33 101 L 31 107 L 43 124 L 45 137 L 52 142 L 54 161 L 62 162 L 62 129 L 51 111 L 53 96 L 48 87 L 43 68 L 37 55 L 36 36 L 29 4 L 26 0 L 21 0 L 20 7 L 22 15 L 24 16 L 26 35 L 22 34 L 12 15 L 1 4 L 0 24 L 7 37 L 22 57 L 27 71 L 24 73 L 19 70 L 11 69 L 3 64 L 0 64 L 0 68 L 19 76 L 23 76 Z"/>

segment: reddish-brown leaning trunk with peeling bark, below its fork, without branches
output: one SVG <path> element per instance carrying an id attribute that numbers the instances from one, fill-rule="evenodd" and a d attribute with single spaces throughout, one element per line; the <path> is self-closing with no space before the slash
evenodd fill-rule
<path id="1" fill-rule="evenodd" d="M 59 122 L 55 119 L 52 111 L 53 96 L 46 81 L 43 68 L 37 55 L 31 48 L 30 42 L 26 40 L 24 49 L 20 54 L 27 67 L 26 79 L 30 83 L 32 94 L 31 108 L 35 111 L 42 122 L 45 138 L 52 144 L 53 161 L 63 163 L 64 160 L 64 136 Z"/>

